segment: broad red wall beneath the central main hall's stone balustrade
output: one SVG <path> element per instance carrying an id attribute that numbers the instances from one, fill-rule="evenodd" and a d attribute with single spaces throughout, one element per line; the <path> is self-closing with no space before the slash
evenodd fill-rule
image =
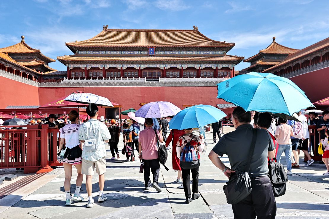
<path id="1" fill-rule="evenodd" d="M 140 108 L 140 103 L 169 101 L 181 109 L 183 104 L 225 104 L 226 101 L 216 99 L 217 87 L 39 87 L 40 105 L 54 99 L 69 95 L 76 90 L 93 93 L 122 105 L 123 109 Z M 105 115 L 105 109 L 100 108 Z"/>

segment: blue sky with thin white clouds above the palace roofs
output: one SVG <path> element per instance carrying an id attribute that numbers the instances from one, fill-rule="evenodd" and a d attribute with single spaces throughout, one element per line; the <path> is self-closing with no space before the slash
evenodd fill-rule
<path id="1" fill-rule="evenodd" d="M 8 0 L 0 3 L 0 47 L 25 42 L 51 58 L 71 55 L 65 42 L 112 29 L 193 29 L 214 40 L 235 42 L 229 55 L 245 58 L 272 37 L 302 49 L 329 36 L 327 0 Z M 50 67 L 66 70 L 56 61 Z M 249 66 L 240 63 L 236 70 Z"/>

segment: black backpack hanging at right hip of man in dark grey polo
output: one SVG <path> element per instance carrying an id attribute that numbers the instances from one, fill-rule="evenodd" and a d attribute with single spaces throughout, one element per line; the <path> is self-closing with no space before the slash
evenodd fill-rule
<path id="1" fill-rule="evenodd" d="M 275 158 L 272 161 L 268 161 L 268 177 L 271 180 L 274 197 L 284 195 L 286 193 L 288 177 L 283 165 L 277 163 Z"/>

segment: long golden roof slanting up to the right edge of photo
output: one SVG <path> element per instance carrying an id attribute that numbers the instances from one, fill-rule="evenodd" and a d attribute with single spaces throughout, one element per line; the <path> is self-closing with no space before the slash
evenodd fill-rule
<path id="1" fill-rule="evenodd" d="M 303 56 L 306 56 L 306 55 L 309 55 L 309 54 L 312 54 L 316 51 L 319 51 L 321 49 L 324 49 L 326 47 L 329 47 L 329 37 L 324 39 L 324 40 L 321 40 L 315 44 L 312 44 L 311 46 L 308 46 L 304 49 L 301 49 L 299 50 L 298 52 L 295 52 L 291 55 L 288 55 L 285 60 L 283 60 L 282 62 L 278 63 L 277 65 L 274 65 L 273 67 L 270 67 L 266 70 L 264 70 L 264 72 L 268 72 L 268 71 L 272 71 L 272 69 L 274 68 L 277 68 L 279 66 L 282 66 L 282 65 L 285 65 L 285 64 L 288 64 L 289 62 L 292 62 L 298 58 L 302 58 Z"/>

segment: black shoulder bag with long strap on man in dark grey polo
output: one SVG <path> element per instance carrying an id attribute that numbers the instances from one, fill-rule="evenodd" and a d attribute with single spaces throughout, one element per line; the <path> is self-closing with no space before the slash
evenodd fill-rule
<path id="1" fill-rule="evenodd" d="M 251 146 L 248 161 L 244 171 L 236 171 L 233 176 L 226 182 L 223 190 L 228 204 L 237 204 L 245 199 L 251 193 L 251 179 L 249 177 L 249 169 L 251 159 L 254 154 L 255 144 L 257 139 L 257 129 L 253 129 Z"/>

